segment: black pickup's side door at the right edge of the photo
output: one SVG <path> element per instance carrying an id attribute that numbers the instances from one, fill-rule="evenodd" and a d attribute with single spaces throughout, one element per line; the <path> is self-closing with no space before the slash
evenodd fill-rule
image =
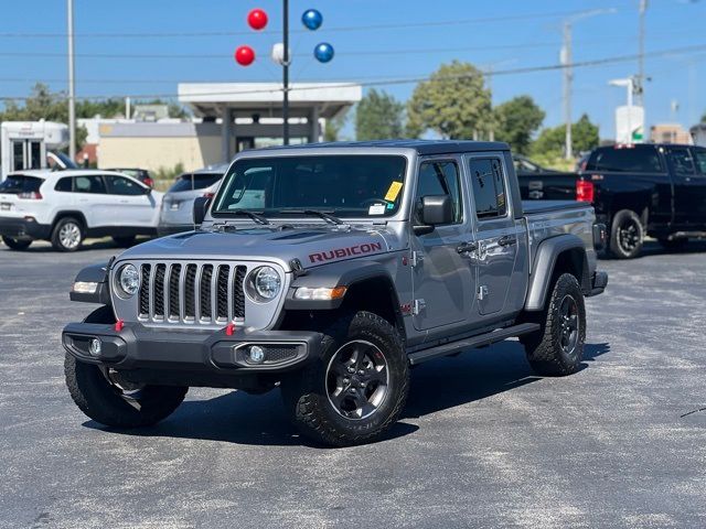
<path id="1" fill-rule="evenodd" d="M 697 229 L 706 225 L 706 177 L 697 170 L 688 147 L 670 147 L 667 160 L 674 179 L 674 220 L 677 226 Z"/>

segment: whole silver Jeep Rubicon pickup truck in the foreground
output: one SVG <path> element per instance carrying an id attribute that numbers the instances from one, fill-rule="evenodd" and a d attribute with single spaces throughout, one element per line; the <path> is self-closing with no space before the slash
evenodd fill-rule
<path id="1" fill-rule="evenodd" d="M 100 423 L 153 424 L 191 386 L 281 386 L 310 439 L 367 442 L 422 361 L 518 337 L 538 374 L 575 373 L 608 282 L 593 209 L 523 207 L 505 143 L 243 152 L 194 220 L 76 278 L 103 306 L 63 331 L 66 384 Z"/>

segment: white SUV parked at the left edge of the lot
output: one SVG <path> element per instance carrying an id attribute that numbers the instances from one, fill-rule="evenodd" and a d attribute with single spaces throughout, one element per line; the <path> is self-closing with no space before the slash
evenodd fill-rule
<path id="1" fill-rule="evenodd" d="M 22 171 L 0 183 L 0 236 L 14 250 L 46 239 L 74 251 L 86 237 L 111 236 L 120 246 L 156 235 L 162 193 L 125 174 Z"/>

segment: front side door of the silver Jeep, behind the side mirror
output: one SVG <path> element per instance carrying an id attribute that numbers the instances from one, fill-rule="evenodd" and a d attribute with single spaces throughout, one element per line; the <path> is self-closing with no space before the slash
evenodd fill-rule
<path id="1" fill-rule="evenodd" d="M 474 277 L 467 252 L 460 251 L 472 237 L 463 207 L 460 160 L 422 160 L 417 174 L 414 223 L 420 224 L 419 205 L 428 195 L 450 195 L 454 219 L 430 234 L 411 237 L 414 325 L 419 331 L 462 325 L 473 303 Z"/>

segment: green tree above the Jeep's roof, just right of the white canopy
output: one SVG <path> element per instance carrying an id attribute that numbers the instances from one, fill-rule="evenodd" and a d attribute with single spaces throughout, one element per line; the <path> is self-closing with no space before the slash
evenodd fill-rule
<path id="1" fill-rule="evenodd" d="M 372 88 L 355 112 L 357 140 L 402 138 L 405 106 L 384 90 Z"/>

